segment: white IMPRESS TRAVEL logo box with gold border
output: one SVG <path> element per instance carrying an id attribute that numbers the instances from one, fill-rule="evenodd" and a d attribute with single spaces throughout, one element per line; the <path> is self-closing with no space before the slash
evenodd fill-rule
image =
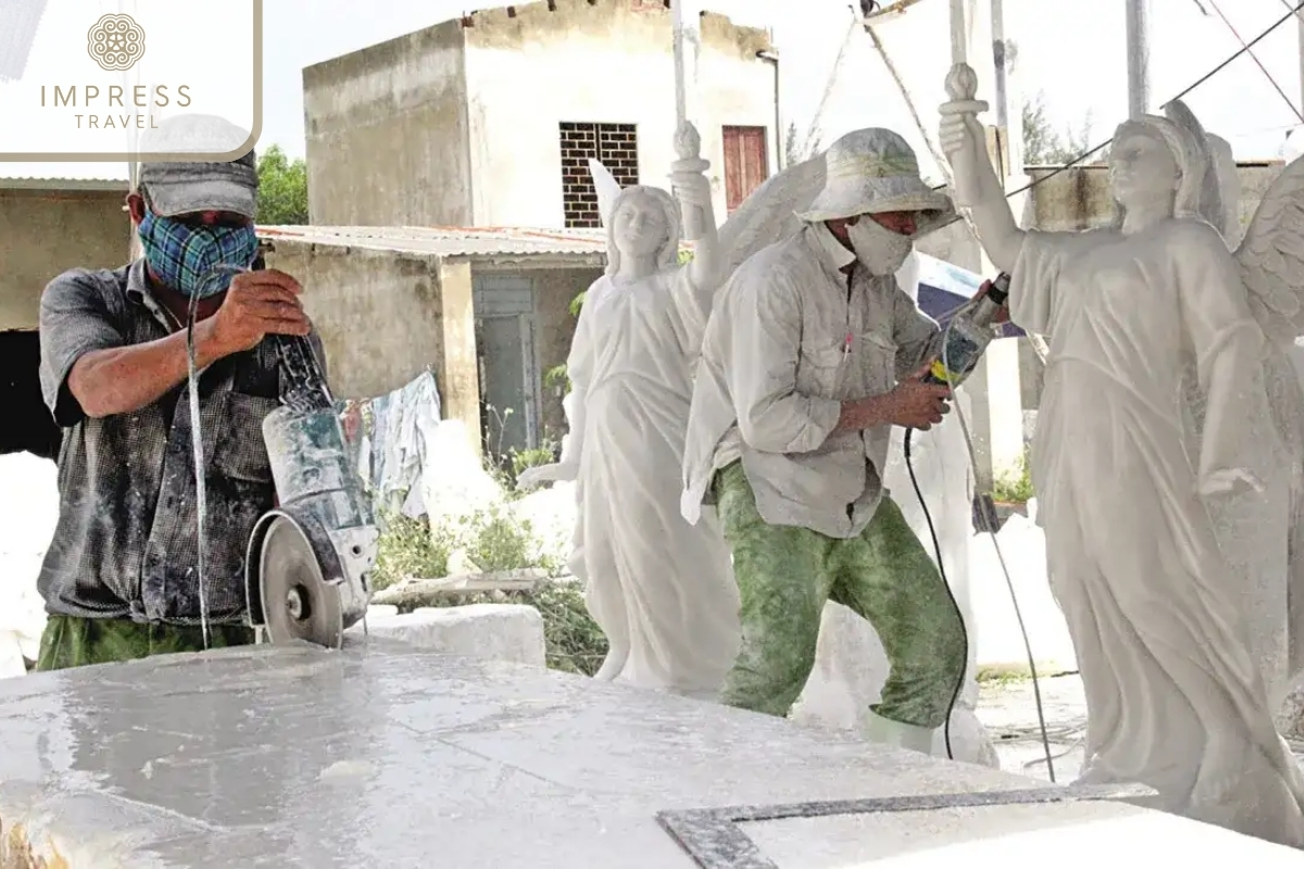
<path id="1" fill-rule="evenodd" d="M 176 0 L 59 0 L 56 17 L 47 0 L 4 0 L 0 162 L 243 156 L 262 128 L 262 3 L 200 13 Z M 192 129 L 228 133 L 149 133 L 181 115 L 222 117 L 230 124 Z"/>

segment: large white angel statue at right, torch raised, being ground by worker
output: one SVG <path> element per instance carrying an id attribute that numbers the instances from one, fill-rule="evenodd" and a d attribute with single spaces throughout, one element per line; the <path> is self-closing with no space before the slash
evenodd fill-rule
<path id="1" fill-rule="evenodd" d="M 1265 340 L 1304 323 L 1304 165 L 1278 178 L 1234 253 L 1211 225 L 1227 208 L 1209 142 L 1145 116 L 1114 138 L 1118 225 L 1024 231 L 987 159 L 975 83 L 952 70 L 941 145 L 957 199 L 1012 276 L 1011 319 L 1050 339 L 1031 473 L 1086 692 L 1080 780 L 1142 783 L 1158 808 L 1304 847 L 1304 775 L 1210 517 L 1261 498 L 1274 461 L 1247 426 L 1271 416 Z"/>

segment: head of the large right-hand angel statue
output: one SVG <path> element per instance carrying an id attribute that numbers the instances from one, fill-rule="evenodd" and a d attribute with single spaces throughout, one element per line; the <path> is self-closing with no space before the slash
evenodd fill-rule
<path id="1" fill-rule="evenodd" d="M 1124 121 L 1110 150 L 1110 186 L 1119 208 L 1171 203 L 1176 218 L 1200 215 L 1208 154 L 1184 126 L 1158 115 Z"/>

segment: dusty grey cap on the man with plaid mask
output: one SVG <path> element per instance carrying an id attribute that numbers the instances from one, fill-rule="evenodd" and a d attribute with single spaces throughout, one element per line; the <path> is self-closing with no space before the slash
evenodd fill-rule
<path id="1" fill-rule="evenodd" d="M 177 115 L 141 135 L 146 154 L 223 154 L 248 141 L 248 130 L 215 115 Z M 155 214 L 231 211 L 253 220 L 258 172 L 253 150 L 231 163 L 142 163 L 140 185 Z"/>

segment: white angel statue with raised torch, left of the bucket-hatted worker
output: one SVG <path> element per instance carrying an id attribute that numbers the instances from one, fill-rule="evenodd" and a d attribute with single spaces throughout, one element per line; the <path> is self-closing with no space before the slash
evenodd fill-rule
<path id="1" fill-rule="evenodd" d="M 720 532 L 679 516 L 692 371 L 722 267 L 699 149 L 683 125 L 670 176 L 678 202 L 659 188 L 622 190 L 591 164 L 606 274 L 584 296 L 566 361 L 562 457 L 520 483 L 576 482 L 570 568 L 609 644 L 596 677 L 715 698 L 737 654 L 738 593 Z M 695 236 L 687 264 L 681 215 Z"/>

